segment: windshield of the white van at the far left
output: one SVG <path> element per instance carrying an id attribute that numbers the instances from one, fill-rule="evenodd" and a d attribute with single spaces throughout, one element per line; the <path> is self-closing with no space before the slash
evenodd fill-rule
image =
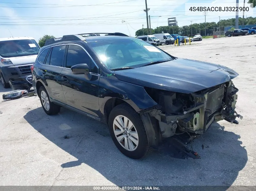
<path id="1" fill-rule="evenodd" d="M 0 42 L 0 55 L 4 58 L 37 55 L 40 47 L 35 40 L 8 40 Z"/>

